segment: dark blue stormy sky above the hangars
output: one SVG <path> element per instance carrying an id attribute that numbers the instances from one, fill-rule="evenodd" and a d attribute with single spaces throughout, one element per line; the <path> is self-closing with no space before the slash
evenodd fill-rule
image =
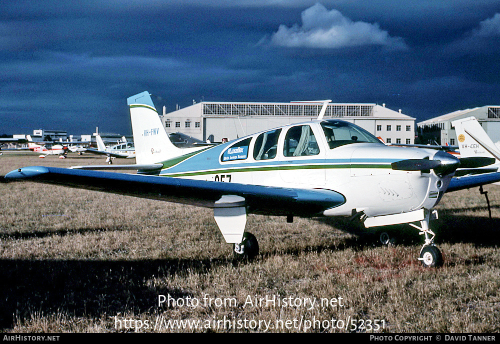
<path id="1" fill-rule="evenodd" d="M 500 105 L 500 2 L 20 0 L 0 12 L 0 134 L 130 134 L 126 98 Z"/>

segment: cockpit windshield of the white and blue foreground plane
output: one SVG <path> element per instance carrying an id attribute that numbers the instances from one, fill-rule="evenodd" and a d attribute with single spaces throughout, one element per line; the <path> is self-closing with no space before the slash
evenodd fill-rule
<path id="1" fill-rule="evenodd" d="M 349 122 L 339 120 L 322 121 L 321 127 L 330 149 L 361 142 L 383 144 L 366 130 Z"/>

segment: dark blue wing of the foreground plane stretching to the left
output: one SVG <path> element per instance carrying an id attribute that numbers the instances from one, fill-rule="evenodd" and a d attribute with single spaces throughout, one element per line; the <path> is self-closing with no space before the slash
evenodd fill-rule
<path id="1" fill-rule="evenodd" d="M 311 217 L 345 203 L 343 195 L 325 189 L 279 188 L 57 167 L 23 167 L 7 173 L 5 179 L 29 180 L 207 208 L 245 207 L 247 213 L 261 215 Z"/>

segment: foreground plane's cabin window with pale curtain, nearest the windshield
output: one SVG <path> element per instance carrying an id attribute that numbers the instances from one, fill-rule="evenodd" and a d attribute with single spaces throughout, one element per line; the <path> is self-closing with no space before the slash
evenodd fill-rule
<path id="1" fill-rule="evenodd" d="M 299 125 L 288 130 L 283 145 L 284 156 L 317 154 L 319 154 L 319 147 L 310 126 Z"/>

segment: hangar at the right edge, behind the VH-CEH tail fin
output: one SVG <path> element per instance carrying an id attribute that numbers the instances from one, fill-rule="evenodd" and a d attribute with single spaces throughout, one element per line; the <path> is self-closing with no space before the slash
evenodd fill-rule
<path id="1" fill-rule="evenodd" d="M 458 110 L 417 123 L 419 143 L 446 143 L 456 146 L 455 129 L 451 122 L 460 118 L 475 117 L 491 141 L 500 141 L 500 106 L 485 105 L 472 109 Z"/>

